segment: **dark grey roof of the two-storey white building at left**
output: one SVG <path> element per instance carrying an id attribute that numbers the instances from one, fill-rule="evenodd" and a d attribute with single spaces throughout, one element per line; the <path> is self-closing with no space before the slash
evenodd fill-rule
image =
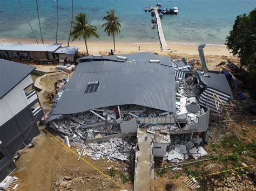
<path id="1" fill-rule="evenodd" d="M 0 59 L 0 99 L 9 93 L 36 67 Z"/>

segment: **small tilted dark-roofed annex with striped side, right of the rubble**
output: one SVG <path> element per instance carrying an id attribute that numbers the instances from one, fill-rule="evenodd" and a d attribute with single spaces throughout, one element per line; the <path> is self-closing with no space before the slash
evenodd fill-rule
<path id="1" fill-rule="evenodd" d="M 202 70 L 197 70 L 196 78 L 200 84 L 199 103 L 201 106 L 208 107 L 213 111 L 218 109 L 215 106 L 215 98 L 226 103 L 233 100 L 232 91 L 226 76 L 218 71 L 208 70 L 208 75 L 203 75 Z"/>

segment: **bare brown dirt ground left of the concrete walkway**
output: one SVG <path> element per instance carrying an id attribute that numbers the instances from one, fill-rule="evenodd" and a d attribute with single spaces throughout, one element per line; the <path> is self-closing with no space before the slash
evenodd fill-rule
<path id="1" fill-rule="evenodd" d="M 53 190 L 55 181 L 63 179 L 64 176 L 70 176 L 72 180 L 83 179 L 78 182 L 69 181 L 71 190 L 119 190 L 113 182 L 84 161 L 78 161 L 75 154 L 46 135 L 44 131 L 35 138 L 35 142 L 35 147 L 22 150 L 22 155 L 16 162 L 18 170 L 12 175 L 19 178 L 18 190 Z M 119 161 L 93 161 L 90 157 L 84 158 L 107 175 L 110 175 L 107 167 L 113 166 L 116 174 L 114 181 L 125 189 L 131 188 L 131 182 L 124 184 L 120 178 L 120 173 L 124 172 L 126 164 Z"/>

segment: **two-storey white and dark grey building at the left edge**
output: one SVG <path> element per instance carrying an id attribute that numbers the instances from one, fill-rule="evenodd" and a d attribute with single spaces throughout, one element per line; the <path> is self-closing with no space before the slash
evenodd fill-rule
<path id="1" fill-rule="evenodd" d="M 44 112 L 30 76 L 34 69 L 0 59 L 0 181 L 16 168 L 16 152 L 39 135 Z"/>

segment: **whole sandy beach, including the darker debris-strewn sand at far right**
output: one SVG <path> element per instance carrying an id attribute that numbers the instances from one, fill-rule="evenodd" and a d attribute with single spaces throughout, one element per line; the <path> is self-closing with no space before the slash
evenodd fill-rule
<path id="1" fill-rule="evenodd" d="M 39 39 L 38 39 L 39 40 Z M 53 44 L 55 40 L 44 40 L 45 44 Z M 26 43 L 35 44 L 34 39 L 0 39 L 0 43 Z M 66 46 L 68 40 L 58 40 L 58 43 L 62 43 Z M 97 41 L 90 41 L 87 43 L 89 54 L 103 54 L 107 55 L 110 49 L 113 49 L 113 42 L 102 41 L 98 39 Z M 169 51 L 162 52 L 160 48 L 160 43 L 139 43 L 139 42 L 121 42 L 116 41 L 116 54 L 125 53 L 137 53 L 138 47 L 140 46 L 140 52 L 153 52 L 160 55 L 169 55 L 172 59 L 182 59 L 185 57 L 187 61 L 192 59 L 199 59 L 198 47 L 199 44 L 186 44 L 186 43 L 168 43 Z M 79 47 L 79 52 L 85 52 L 85 44 L 81 41 L 73 41 L 70 46 Z M 232 60 L 235 63 L 239 63 L 237 56 L 233 56 L 225 45 L 206 45 L 204 48 L 204 53 L 206 56 L 207 66 L 209 69 L 221 69 L 222 67 L 215 67 L 221 61 Z"/>

